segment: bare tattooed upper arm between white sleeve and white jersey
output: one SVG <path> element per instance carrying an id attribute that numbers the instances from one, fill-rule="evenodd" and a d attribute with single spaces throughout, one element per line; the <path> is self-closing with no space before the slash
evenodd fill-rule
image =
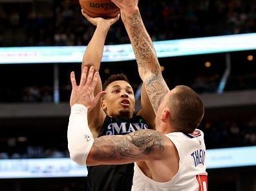
<path id="1" fill-rule="evenodd" d="M 86 165 L 118 165 L 162 159 L 168 139 L 156 130 L 140 130 L 125 136 L 94 139 Z"/>

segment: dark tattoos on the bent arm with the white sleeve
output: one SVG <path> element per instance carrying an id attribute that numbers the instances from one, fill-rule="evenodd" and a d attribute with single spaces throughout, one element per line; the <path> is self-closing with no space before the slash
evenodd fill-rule
<path id="1" fill-rule="evenodd" d="M 100 161 L 118 161 L 164 150 L 164 136 L 156 130 L 140 130 L 126 136 L 103 136 L 94 140 L 91 157 Z"/>

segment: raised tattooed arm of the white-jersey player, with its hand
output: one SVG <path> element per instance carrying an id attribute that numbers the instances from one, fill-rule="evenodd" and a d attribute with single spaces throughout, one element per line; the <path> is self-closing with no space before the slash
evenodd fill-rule
<path id="1" fill-rule="evenodd" d="M 138 0 L 112 1 L 121 10 L 122 21 L 133 45 L 140 77 L 145 84 L 145 90 L 156 113 L 169 88 L 162 77 L 153 43 L 140 16 Z"/>

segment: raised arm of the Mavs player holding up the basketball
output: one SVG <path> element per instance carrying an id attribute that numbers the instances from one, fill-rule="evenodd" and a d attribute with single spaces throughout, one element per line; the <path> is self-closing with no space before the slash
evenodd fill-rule
<path id="1" fill-rule="evenodd" d="M 92 36 L 91 41 L 89 42 L 89 45 L 87 46 L 87 49 L 85 50 L 85 54 L 83 55 L 81 70 L 83 70 L 85 66 L 94 66 L 95 70 L 99 71 L 107 32 L 109 31 L 110 26 L 119 19 L 119 16 L 113 19 L 103 19 L 100 17 L 92 18 L 85 14 L 83 10 L 82 14 L 87 18 L 88 21 L 96 26 L 96 30 Z M 94 90 L 94 95 L 101 91 L 102 85 L 101 79 L 99 79 Z M 104 118 L 105 112 L 103 112 L 103 109 L 101 108 L 101 101 L 99 101 L 95 108 L 90 110 L 88 114 L 89 125 L 91 127 L 92 133 L 94 134 L 94 137 L 98 136 L 98 132 L 103 124 Z"/>

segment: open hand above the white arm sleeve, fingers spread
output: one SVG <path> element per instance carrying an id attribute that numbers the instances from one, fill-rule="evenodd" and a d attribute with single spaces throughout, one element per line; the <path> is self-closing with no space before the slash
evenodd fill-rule
<path id="1" fill-rule="evenodd" d="M 100 98 L 106 94 L 105 91 L 102 91 L 94 97 L 94 89 L 99 77 L 98 72 L 94 74 L 93 66 L 91 66 L 90 70 L 88 67 L 85 67 L 81 74 L 80 85 L 76 85 L 75 74 L 71 72 L 70 81 L 72 84 L 72 93 L 70 96 L 70 106 L 78 103 L 85 105 L 88 110 L 92 110 L 98 101 L 100 101 Z"/>

